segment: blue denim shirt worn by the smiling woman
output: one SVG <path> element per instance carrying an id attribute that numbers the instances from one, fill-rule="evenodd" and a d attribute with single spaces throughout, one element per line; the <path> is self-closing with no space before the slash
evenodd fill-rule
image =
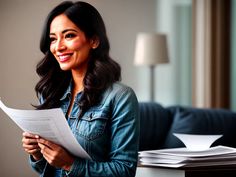
<path id="1" fill-rule="evenodd" d="M 101 102 L 89 108 L 78 120 L 79 93 L 73 103 L 68 123 L 80 145 L 91 160 L 76 157 L 68 177 L 129 177 L 135 176 L 139 145 L 139 110 L 134 91 L 121 83 L 114 83 L 102 95 Z M 71 100 L 71 85 L 61 98 L 66 115 Z M 41 177 L 52 177 L 53 168 L 45 159 L 30 164 Z M 51 169 L 51 170 L 50 170 Z"/>

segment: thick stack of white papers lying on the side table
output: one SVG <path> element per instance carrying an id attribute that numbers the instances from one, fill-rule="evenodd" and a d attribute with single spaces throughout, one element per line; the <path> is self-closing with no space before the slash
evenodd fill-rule
<path id="1" fill-rule="evenodd" d="M 206 150 L 172 148 L 139 152 L 141 165 L 161 167 L 198 167 L 236 164 L 236 149 L 226 146 Z"/>

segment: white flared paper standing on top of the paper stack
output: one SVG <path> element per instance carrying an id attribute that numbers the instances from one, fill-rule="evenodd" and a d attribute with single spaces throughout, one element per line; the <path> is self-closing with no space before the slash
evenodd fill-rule
<path id="1" fill-rule="evenodd" d="M 212 143 L 222 137 L 222 135 L 197 135 L 173 133 L 180 139 L 189 150 L 205 150 L 210 148 Z"/>

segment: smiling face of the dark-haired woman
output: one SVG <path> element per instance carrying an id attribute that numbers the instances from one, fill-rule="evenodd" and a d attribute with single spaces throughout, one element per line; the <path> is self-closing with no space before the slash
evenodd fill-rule
<path id="1" fill-rule="evenodd" d="M 96 46 L 66 15 L 53 19 L 50 41 L 50 51 L 62 70 L 86 72 L 90 50 Z"/>

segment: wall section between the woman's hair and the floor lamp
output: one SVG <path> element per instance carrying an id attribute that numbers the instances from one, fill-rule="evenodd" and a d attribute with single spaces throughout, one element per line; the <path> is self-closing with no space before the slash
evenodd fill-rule
<path id="1" fill-rule="evenodd" d="M 111 43 L 111 56 L 121 64 L 122 81 L 131 86 L 139 101 L 149 100 L 149 68 L 133 65 L 138 32 L 154 32 L 156 0 L 92 1 L 101 12 Z"/>

